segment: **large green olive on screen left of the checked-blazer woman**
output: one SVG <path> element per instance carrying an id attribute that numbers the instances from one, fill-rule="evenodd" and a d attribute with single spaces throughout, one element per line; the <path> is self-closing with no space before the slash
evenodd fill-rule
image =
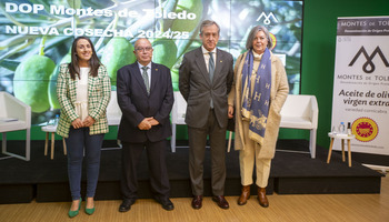
<path id="1" fill-rule="evenodd" d="M 14 95 L 31 107 L 32 112 L 50 108 L 48 82 L 56 63 L 48 57 L 36 54 L 20 62 L 13 77 Z"/>

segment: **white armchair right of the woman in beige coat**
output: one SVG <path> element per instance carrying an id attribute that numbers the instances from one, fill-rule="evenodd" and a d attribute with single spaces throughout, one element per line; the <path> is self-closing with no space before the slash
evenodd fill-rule
<path id="1" fill-rule="evenodd" d="M 281 109 L 280 128 L 303 129 L 310 131 L 309 151 L 316 158 L 316 131 L 318 129 L 319 108 L 315 95 L 289 94 Z"/>

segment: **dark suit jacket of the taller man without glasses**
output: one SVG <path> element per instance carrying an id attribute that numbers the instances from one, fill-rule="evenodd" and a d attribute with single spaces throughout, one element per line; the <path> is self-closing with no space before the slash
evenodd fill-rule
<path id="1" fill-rule="evenodd" d="M 179 88 L 188 103 L 186 123 L 189 127 L 202 128 L 206 125 L 211 98 L 219 127 L 227 127 L 227 99 L 233 80 L 232 56 L 217 49 L 215 64 L 211 82 L 201 47 L 183 56 L 179 71 Z"/>

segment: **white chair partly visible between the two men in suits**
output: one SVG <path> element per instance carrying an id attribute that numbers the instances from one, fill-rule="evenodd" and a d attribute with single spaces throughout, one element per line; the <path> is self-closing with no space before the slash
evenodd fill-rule
<path id="1" fill-rule="evenodd" d="M 180 92 L 174 92 L 174 103 L 171 110 L 171 152 L 176 152 L 176 125 L 186 124 L 184 115 L 187 112 L 187 101 L 183 99 Z"/>

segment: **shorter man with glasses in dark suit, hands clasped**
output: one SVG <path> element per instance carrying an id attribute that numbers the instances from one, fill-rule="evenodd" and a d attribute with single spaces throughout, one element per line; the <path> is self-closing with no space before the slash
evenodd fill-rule
<path id="1" fill-rule="evenodd" d="M 127 212 L 137 200 L 137 164 L 147 152 L 151 190 L 164 210 L 173 210 L 164 160 L 167 138 L 171 135 L 169 114 L 173 90 L 169 68 L 151 62 L 149 40 L 136 41 L 137 62 L 122 67 L 117 74 L 118 103 L 122 112 L 118 139 L 122 143 L 120 212 Z"/>

